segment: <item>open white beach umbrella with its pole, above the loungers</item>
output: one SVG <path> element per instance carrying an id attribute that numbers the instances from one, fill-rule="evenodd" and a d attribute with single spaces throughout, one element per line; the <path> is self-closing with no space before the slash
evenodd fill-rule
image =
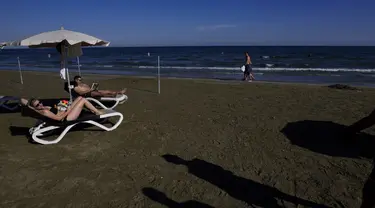
<path id="1" fill-rule="evenodd" d="M 109 46 L 110 42 L 80 32 L 65 30 L 63 27 L 61 27 L 60 30 L 44 32 L 23 40 L 6 42 L 3 44 L 5 46 L 27 46 L 29 48 L 57 48 L 57 50 L 61 53 L 63 69 L 66 73 L 68 83 L 70 83 L 69 71 L 67 69 L 66 62 L 67 58 L 72 55 L 82 55 L 82 52 L 77 52 L 77 48 L 80 51 L 81 46 Z M 72 101 L 70 88 L 69 94 L 70 100 Z"/>

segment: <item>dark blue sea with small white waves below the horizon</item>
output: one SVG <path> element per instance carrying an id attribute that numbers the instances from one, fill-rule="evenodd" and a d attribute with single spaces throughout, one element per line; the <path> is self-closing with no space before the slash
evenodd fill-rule
<path id="1" fill-rule="evenodd" d="M 346 46 L 225 46 L 225 47 L 107 47 L 83 48 L 81 73 L 241 80 L 244 52 L 249 52 L 256 80 L 375 86 L 375 47 Z M 0 69 L 54 71 L 56 49 L 0 51 Z M 76 58 L 69 60 L 77 71 Z"/>

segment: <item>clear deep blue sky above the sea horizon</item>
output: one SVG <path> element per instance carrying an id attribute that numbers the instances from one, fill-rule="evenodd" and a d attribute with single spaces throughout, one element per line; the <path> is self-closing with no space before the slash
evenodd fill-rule
<path id="1" fill-rule="evenodd" d="M 59 29 L 112 46 L 375 45 L 374 0 L 2 0 L 0 42 Z"/>

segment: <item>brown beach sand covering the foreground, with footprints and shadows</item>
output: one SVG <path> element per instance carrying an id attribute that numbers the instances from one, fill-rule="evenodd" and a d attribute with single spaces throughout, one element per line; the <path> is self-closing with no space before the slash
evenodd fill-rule
<path id="1" fill-rule="evenodd" d="M 72 76 L 73 77 L 73 76 Z M 375 89 L 84 75 L 128 88 L 114 131 L 29 143 L 35 119 L 0 118 L 1 207 L 360 207 L 375 128 L 337 135 L 370 113 Z M 67 98 L 56 73 L 1 71 L 1 93 Z M 371 190 L 371 189 L 369 189 Z M 373 196 L 373 195 L 372 195 Z M 296 206 L 296 204 L 299 204 Z"/>

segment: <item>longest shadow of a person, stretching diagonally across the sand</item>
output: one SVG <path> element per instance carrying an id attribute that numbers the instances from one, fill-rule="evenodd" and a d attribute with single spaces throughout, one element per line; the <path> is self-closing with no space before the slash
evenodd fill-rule
<path id="1" fill-rule="evenodd" d="M 250 206 L 282 207 L 277 203 L 277 199 L 280 199 L 283 202 L 288 201 L 307 207 L 327 207 L 285 194 L 276 188 L 236 176 L 218 165 L 201 159 L 186 161 L 175 155 L 163 155 L 162 157 L 170 163 L 187 166 L 190 174 L 217 186 L 233 198 L 244 201 Z"/>

